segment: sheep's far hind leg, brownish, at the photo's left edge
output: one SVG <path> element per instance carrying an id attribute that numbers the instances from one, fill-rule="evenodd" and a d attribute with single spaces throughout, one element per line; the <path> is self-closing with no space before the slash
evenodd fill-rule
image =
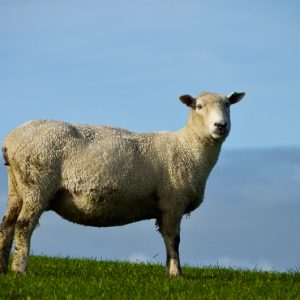
<path id="1" fill-rule="evenodd" d="M 7 272 L 16 221 L 22 208 L 13 175 L 8 172 L 8 207 L 0 225 L 0 273 Z"/>

